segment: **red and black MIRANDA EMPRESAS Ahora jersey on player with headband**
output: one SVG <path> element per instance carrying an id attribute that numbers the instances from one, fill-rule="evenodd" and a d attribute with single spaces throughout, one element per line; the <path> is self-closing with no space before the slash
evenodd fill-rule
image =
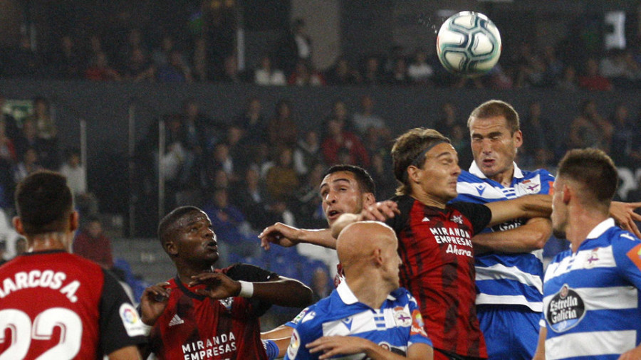
<path id="1" fill-rule="evenodd" d="M 474 250 L 471 238 L 491 220 L 476 203 L 425 206 L 397 196 L 400 215 L 387 224 L 396 231 L 403 266 L 400 285 L 416 298 L 434 347 L 461 356 L 487 357 L 476 318 Z"/>

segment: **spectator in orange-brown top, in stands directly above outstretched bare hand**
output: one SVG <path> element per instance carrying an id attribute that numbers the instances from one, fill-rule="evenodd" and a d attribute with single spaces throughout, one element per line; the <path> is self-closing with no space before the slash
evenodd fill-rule
<path id="1" fill-rule="evenodd" d="M 281 147 L 276 162 L 265 176 L 267 194 L 273 200 L 289 200 L 293 190 L 298 189 L 300 181 L 293 169 L 291 147 Z"/>

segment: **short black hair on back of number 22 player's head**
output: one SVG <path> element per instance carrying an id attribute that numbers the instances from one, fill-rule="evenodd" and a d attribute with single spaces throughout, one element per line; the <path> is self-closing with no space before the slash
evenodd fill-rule
<path id="1" fill-rule="evenodd" d="M 15 201 L 26 235 L 67 230 L 67 221 L 73 212 L 73 196 L 65 176 L 54 171 L 36 171 L 20 181 Z"/>

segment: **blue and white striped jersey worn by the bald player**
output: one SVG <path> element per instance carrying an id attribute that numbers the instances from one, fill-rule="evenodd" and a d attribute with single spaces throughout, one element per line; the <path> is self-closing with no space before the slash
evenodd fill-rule
<path id="1" fill-rule="evenodd" d="M 428 344 L 421 313 L 410 292 L 400 287 L 372 309 L 359 302 L 347 285 L 341 282 L 329 297 L 309 307 L 291 336 L 285 359 L 318 359 L 306 344 L 323 336 L 355 336 L 378 344 L 395 354 L 406 354 L 412 344 Z M 332 359 L 363 359 L 364 354 L 335 356 Z"/>

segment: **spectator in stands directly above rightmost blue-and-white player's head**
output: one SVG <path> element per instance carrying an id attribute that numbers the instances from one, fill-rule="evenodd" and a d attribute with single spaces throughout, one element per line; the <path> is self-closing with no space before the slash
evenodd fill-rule
<path id="1" fill-rule="evenodd" d="M 580 110 L 570 124 L 570 149 L 593 147 L 608 152 L 613 125 L 598 113 L 593 100 L 584 100 Z"/>

